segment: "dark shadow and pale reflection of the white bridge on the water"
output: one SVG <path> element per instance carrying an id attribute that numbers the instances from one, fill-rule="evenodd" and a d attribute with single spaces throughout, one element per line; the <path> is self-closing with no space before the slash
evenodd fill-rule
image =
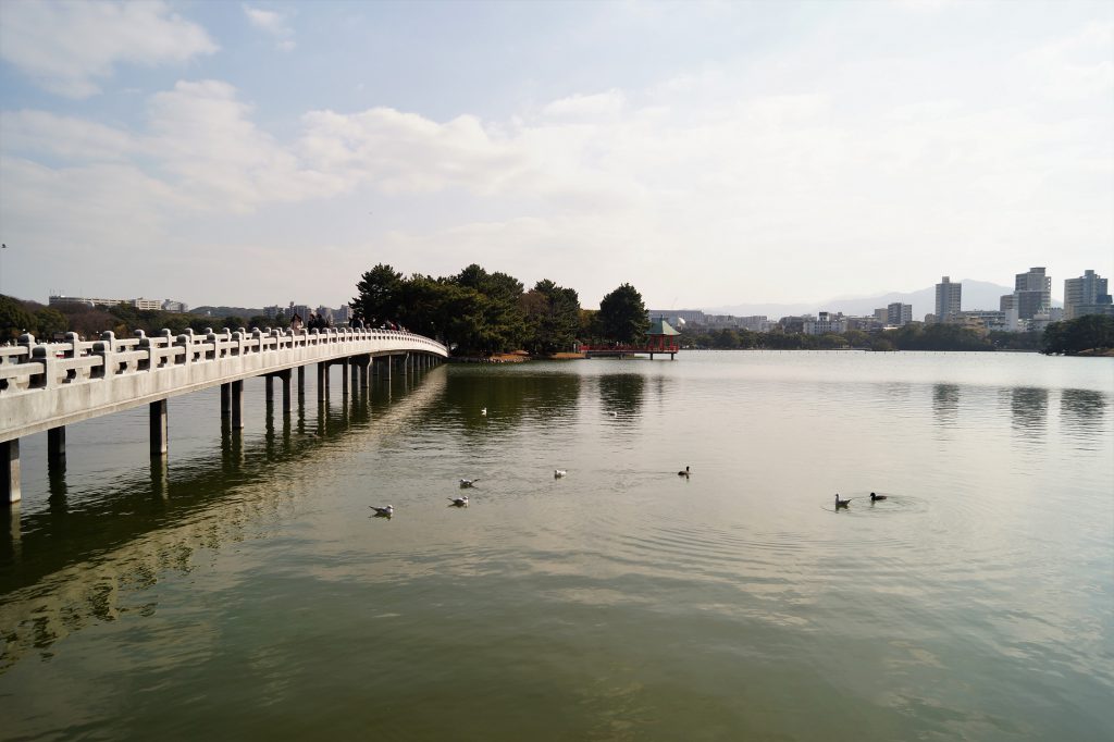
<path id="1" fill-rule="evenodd" d="M 312 400 L 271 418 L 251 442 L 224 426 L 218 449 L 173 465 L 152 459 L 77 502 L 65 471 L 55 470 L 45 509 L 0 510 L 0 673 L 30 651 L 46 653 L 90 623 L 115 619 L 126 609 L 121 590 L 154 584 L 167 569 L 188 572 L 198 548 L 243 540 L 253 523 L 280 519 L 297 496 L 258 485 L 340 441 L 401 435 L 440 398 L 444 378 L 438 367 Z"/>

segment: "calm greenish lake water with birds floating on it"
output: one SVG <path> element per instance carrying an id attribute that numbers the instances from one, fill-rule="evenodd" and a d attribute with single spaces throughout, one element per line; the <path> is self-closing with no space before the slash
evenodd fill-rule
<path id="1" fill-rule="evenodd" d="M 1111 360 L 306 375 L 170 400 L 165 470 L 146 409 L 23 441 L 0 738 L 1114 735 Z"/>

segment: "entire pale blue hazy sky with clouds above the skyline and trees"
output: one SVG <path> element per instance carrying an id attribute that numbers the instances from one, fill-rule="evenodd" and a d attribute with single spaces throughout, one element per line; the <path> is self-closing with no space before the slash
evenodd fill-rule
<path id="1" fill-rule="evenodd" d="M 0 240 L 42 302 L 1058 296 L 1114 277 L 1114 3 L 3 0 Z"/>

